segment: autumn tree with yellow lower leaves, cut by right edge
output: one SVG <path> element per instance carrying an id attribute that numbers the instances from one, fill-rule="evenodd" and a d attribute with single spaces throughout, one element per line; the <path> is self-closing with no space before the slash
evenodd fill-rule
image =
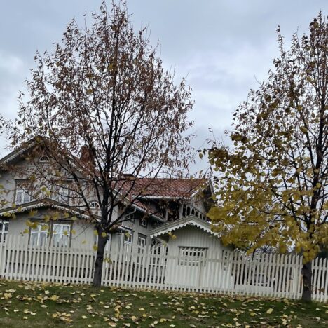
<path id="1" fill-rule="evenodd" d="M 218 203 L 210 210 L 224 241 L 303 254 L 303 295 L 311 261 L 328 243 L 328 25 L 320 13 L 309 35 L 294 34 L 258 90 L 233 114 L 233 147 L 214 142 Z"/>

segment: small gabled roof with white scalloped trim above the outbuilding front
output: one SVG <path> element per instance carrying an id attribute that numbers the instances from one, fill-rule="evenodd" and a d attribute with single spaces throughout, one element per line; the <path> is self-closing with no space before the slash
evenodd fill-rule
<path id="1" fill-rule="evenodd" d="M 176 221 L 170 221 L 167 224 L 163 224 L 163 226 L 159 226 L 158 228 L 154 228 L 150 231 L 151 238 L 159 237 L 160 235 L 165 235 L 167 233 L 172 233 L 172 231 L 176 231 L 180 228 L 184 228 L 185 226 L 196 226 L 201 230 L 210 233 L 212 235 L 216 235 L 219 237 L 217 233 L 214 233 L 211 230 L 211 224 L 199 217 L 195 217 L 193 215 L 189 215 L 189 217 L 183 217 L 182 219 L 178 219 Z"/>

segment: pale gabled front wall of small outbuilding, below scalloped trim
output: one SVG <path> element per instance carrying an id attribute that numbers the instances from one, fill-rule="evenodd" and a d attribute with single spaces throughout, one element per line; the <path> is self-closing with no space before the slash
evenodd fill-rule
<path id="1" fill-rule="evenodd" d="M 201 247 L 205 250 L 205 257 L 215 259 L 220 257 L 227 247 L 221 245 L 219 238 L 202 231 L 196 226 L 186 226 L 173 233 L 176 238 L 168 241 L 168 263 L 166 266 L 165 282 L 173 285 L 209 287 L 233 287 L 231 266 L 222 266 L 211 261 L 181 262 L 182 247 Z M 180 261 L 180 263 L 179 263 Z M 223 278 L 224 277 L 224 278 Z"/>

